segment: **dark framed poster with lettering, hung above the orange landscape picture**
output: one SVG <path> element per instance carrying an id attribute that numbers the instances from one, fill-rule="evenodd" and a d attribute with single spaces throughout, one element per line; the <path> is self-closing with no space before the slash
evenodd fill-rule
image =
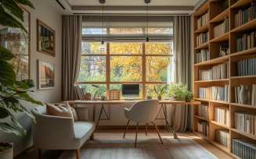
<path id="1" fill-rule="evenodd" d="M 55 31 L 38 19 L 38 51 L 55 56 Z"/>

